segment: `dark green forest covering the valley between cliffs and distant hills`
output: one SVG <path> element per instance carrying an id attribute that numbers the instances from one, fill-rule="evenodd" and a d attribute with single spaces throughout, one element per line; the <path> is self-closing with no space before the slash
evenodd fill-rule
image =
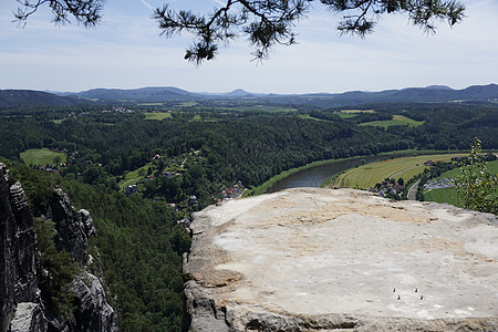
<path id="1" fill-rule="evenodd" d="M 484 151 L 498 148 L 497 103 L 365 104 L 355 110 L 374 112 L 341 116 L 344 110 L 243 101 L 6 108 L 0 156 L 34 215 L 55 186 L 91 212 L 92 247 L 120 330 L 180 331 L 188 325 L 181 255 L 190 238 L 177 220 L 221 199 L 225 188 L 240 181 L 250 193 L 318 160 L 468 151 L 475 137 Z M 416 125 L 396 125 L 400 116 Z M 53 160 L 33 163 L 31 149 L 42 148 L 56 153 Z M 125 195 L 127 184 L 136 193 Z"/>

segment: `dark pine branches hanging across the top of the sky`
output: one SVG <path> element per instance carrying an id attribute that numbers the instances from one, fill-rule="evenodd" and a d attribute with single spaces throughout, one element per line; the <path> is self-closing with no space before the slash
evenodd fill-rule
<path id="1" fill-rule="evenodd" d="M 39 7 L 49 6 L 56 23 L 69 22 L 73 15 L 79 23 L 92 27 L 102 17 L 104 0 L 24 0 L 15 18 L 19 22 L 33 14 Z M 220 43 L 238 34 L 247 35 L 255 48 L 255 59 L 268 58 L 276 44 L 295 43 L 293 31 L 297 21 L 304 19 L 313 3 L 341 14 L 336 28 L 341 33 L 364 37 L 373 31 L 378 18 L 386 13 L 406 13 L 408 21 L 426 32 L 434 32 L 437 21 L 450 25 L 464 18 L 465 7 L 455 0 L 225 0 L 210 13 L 191 10 L 175 11 L 165 3 L 154 10 L 162 34 L 173 37 L 180 32 L 194 34 L 196 41 L 185 59 L 196 63 L 211 60 Z"/>

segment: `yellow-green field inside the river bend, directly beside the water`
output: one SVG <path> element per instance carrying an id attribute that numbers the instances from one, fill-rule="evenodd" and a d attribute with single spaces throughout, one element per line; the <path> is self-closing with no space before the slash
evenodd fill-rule
<path id="1" fill-rule="evenodd" d="M 329 186 L 346 188 L 369 188 L 385 178 L 403 177 L 405 180 L 423 172 L 424 163 L 427 160 L 440 162 L 449 160 L 453 157 L 461 157 L 466 154 L 444 154 L 444 155 L 424 155 L 416 157 L 403 157 L 388 159 L 380 163 L 367 164 L 357 168 L 352 168 L 336 176 Z"/>

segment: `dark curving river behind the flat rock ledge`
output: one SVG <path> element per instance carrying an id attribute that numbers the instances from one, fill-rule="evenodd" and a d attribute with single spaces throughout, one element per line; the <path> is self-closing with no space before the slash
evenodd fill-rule
<path id="1" fill-rule="evenodd" d="M 363 164 L 406 156 L 406 154 L 385 154 L 377 156 L 353 157 L 318 165 L 311 168 L 299 170 L 294 174 L 289 175 L 288 177 L 282 178 L 281 180 L 274 183 L 271 187 L 269 187 L 266 194 L 297 187 L 320 187 L 324 180 L 342 170 L 353 168 Z"/>

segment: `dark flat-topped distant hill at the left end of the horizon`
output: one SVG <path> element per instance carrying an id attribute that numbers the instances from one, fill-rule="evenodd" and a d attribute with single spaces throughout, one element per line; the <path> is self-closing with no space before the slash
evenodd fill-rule
<path id="1" fill-rule="evenodd" d="M 32 90 L 0 90 L 0 110 L 25 106 L 72 106 L 82 101 L 74 96 L 59 96 Z"/>

